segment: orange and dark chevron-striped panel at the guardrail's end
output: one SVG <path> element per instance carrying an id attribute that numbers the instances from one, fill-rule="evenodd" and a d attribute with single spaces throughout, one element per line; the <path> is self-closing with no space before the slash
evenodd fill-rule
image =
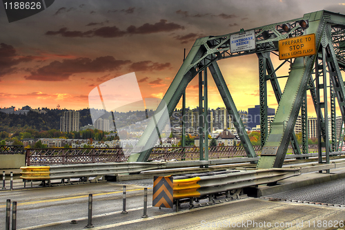
<path id="1" fill-rule="evenodd" d="M 152 193 L 152 206 L 153 207 L 165 207 L 172 209 L 172 176 L 153 178 L 153 193 Z"/>

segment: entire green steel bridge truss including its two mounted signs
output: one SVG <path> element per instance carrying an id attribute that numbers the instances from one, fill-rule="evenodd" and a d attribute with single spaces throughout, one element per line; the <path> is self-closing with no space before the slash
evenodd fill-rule
<path id="1" fill-rule="evenodd" d="M 166 118 L 159 111 L 167 108 L 172 115 L 190 81 L 199 75 L 199 115 L 206 117 L 207 68 L 217 85 L 229 115 L 239 135 L 248 157 L 255 157 L 255 151 L 246 133 L 235 102 L 230 95 L 217 61 L 256 54 L 259 61 L 259 101 L 262 153 L 257 162 L 258 169 L 281 168 L 288 145 L 295 154 L 308 153 L 308 128 L 306 92 L 311 93 L 317 113 L 317 139 L 319 143 L 319 163 L 329 164 L 330 151 L 337 151 L 335 134 L 335 98 L 345 118 L 345 88 L 341 71 L 345 68 L 345 15 L 321 10 L 305 14 L 302 18 L 273 23 L 251 30 L 241 30 L 228 35 L 208 36 L 197 39 L 190 49 L 177 75 L 173 79 L 164 98 L 157 108 L 155 122 L 152 121 L 132 151 L 130 162 L 145 162 L 157 142 L 157 128 L 161 130 Z M 270 54 L 279 55 L 284 60 L 277 68 L 273 66 Z M 276 72 L 284 65 L 290 65 L 290 72 L 284 91 L 277 81 Z M 279 104 L 268 132 L 267 89 L 270 82 Z M 331 101 L 331 137 L 328 139 L 328 95 Z M 183 108 L 183 110 L 184 110 Z M 301 111 L 302 151 L 294 133 L 295 122 Z M 200 120 L 200 160 L 208 160 L 208 127 Z M 205 122 L 207 124 L 207 122 Z M 184 131 L 184 128 L 183 128 Z M 204 136 L 203 136 L 204 133 Z M 184 136 L 184 135 L 183 135 Z M 202 141 L 204 139 L 204 141 Z M 342 140 L 340 140 L 342 142 Z M 326 160 L 322 159 L 326 151 Z"/>

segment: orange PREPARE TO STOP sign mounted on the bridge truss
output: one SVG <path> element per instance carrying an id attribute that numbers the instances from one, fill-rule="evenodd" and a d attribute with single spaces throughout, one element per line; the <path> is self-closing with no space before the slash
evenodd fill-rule
<path id="1" fill-rule="evenodd" d="M 279 60 L 315 55 L 315 34 L 279 40 Z"/>

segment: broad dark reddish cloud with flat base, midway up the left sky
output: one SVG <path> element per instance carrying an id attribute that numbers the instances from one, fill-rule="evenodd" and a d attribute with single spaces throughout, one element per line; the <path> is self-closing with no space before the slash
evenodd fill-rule
<path id="1" fill-rule="evenodd" d="M 76 73 L 101 73 L 119 70 L 130 62 L 129 60 L 117 60 L 112 56 L 97 57 L 94 60 L 87 57 L 63 59 L 63 61 L 52 61 L 24 78 L 37 81 L 64 81 Z"/>

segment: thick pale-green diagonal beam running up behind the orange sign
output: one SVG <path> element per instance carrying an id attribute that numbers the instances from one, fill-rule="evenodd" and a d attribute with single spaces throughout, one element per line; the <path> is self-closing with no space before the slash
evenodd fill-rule
<path id="1" fill-rule="evenodd" d="M 315 43 L 318 49 L 324 32 L 323 16 L 315 15 L 309 21 L 307 33 L 315 33 Z M 281 168 L 284 162 L 288 142 L 301 108 L 304 93 L 308 86 L 308 79 L 313 71 L 316 55 L 295 58 L 288 76 L 288 81 L 279 102 L 274 121 L 270 124 L 262 155 L 257 163 L 257 169 Z"/>

